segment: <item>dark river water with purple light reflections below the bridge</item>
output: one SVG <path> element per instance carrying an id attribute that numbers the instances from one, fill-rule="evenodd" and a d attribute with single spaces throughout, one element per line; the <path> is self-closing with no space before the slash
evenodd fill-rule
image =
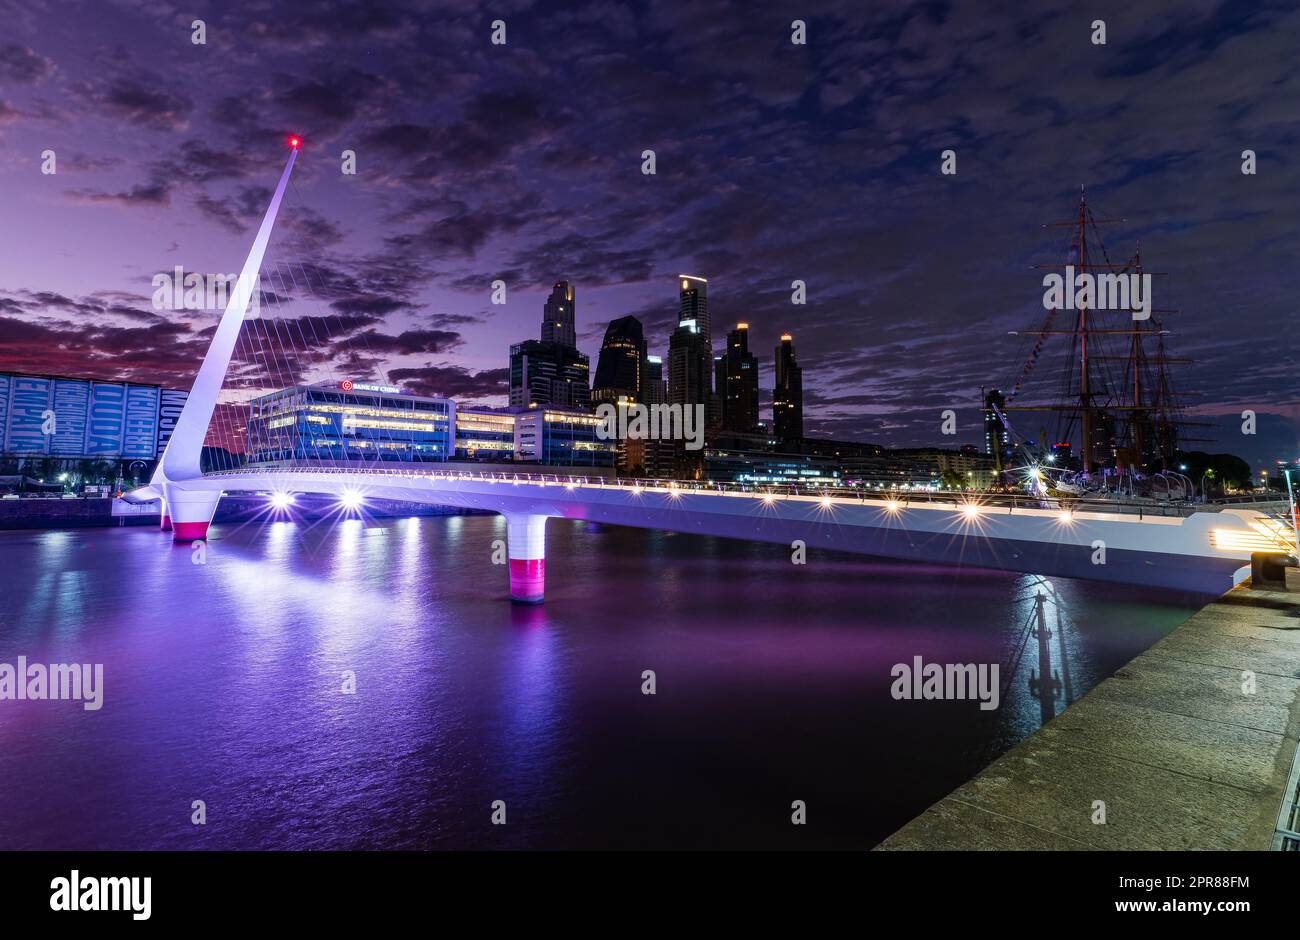
<path id="1" fill-rule="evenodd" d="M 1199 602 L 552 520 L 546 605 L 514 607 L 503 537 L 222 525 L 199 566 L 146 528 L 0 533 L 0 662 L 105 672 L 99 712 L 0 702 L 0 849 L 868 848 Z M 892 699 L 915 655 L 1001 663 L 1001 707 Z"/>

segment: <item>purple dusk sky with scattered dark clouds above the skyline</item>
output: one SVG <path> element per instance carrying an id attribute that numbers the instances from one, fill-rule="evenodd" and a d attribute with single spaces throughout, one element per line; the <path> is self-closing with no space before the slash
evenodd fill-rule
<path id="1" fill-rule="evenodd" d="M 1043 317 L 1031 265 L 1062 257 L 1041 224 L 1087 185 L 1127 220 L 1112 256 L 1141 239 L 1169 272 L 1200 446 L 1297 451 L 1294 4 L 0 0 L 0 368 L 186 387 L 216 312 L 155 311 L 151 280 L 238 270 L 299 131 L 264 312 L 315 342 L 233 385 L 499 404 L 551 282 L 577 285 L 594 369 L 627 313 L 666 352 L 688 272 L 715 335 L 751 324 L 764 386 L 794 333 L 809 433 L 952 445 L 954 408 L 975 441 L 979 386 L 1024 361 L 1008 330 Z"/>

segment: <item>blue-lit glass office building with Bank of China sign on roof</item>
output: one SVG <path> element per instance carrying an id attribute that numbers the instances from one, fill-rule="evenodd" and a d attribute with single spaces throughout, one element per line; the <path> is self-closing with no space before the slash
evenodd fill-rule
<path id="1" fill-rule="evenodd" d="M 446 460 L 455 408 L 389 385 L 298 385 L 250 402 L 248 459 Z"/>

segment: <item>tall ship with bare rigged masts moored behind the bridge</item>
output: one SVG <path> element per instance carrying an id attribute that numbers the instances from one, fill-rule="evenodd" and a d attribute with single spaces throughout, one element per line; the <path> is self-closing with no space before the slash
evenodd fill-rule
<path id="1" fill-rule="evenodd" d="M 1052 272 L 1044 316 L 1017 332 L 1023 358 L 1010 390 L 984 394 L 989 450 L 998 469 L 1032 465 L 1066 495 L 1191 498 L 1175 454 L 1204 439 L 1191 437 L 1204 425 L 1187 419 L 1171 374 L 1191 361 L 1167 350 L 1179 311 L 1156 306 L 1167 274 L 1147 269 L 1140 242 L 1112 257 L 1101 226 L 1124 221 L 1097 218 L 1080 191 L 1074 218 L 1044 226 L 1063 230 L 1062 251 L 1035 265 Z"/>

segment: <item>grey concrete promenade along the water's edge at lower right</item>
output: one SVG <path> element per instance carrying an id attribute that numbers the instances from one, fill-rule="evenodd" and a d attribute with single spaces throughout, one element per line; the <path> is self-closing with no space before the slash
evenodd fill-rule
<path id="1" fill-rule="evenodd" d="M 878 849 L 1273 848 L 1300 735 L 1287 586 L 1238 585 Z"/>

